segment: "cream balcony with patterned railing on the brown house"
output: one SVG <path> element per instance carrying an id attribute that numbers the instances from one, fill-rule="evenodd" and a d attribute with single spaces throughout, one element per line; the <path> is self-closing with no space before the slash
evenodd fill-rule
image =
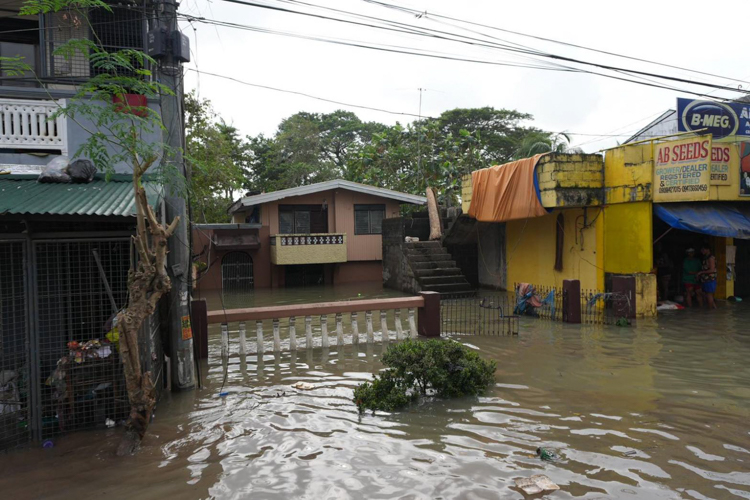
<path id="1" fill-rule="evenodd" d="M 332 264 L 346 262 L 346 234 L 275 234 L 271 235 L 271 263 Z"/>

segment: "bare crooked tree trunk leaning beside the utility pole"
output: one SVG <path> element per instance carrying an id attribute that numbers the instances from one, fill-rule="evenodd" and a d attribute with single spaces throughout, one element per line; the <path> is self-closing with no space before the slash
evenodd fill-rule
<path id="1" fill-rule="evenodd" d="M 133 243 L 139 260 L 128 276 L 128 305 L 117 315 L 120 333 L 120 357 L 125 372 L 125 385 L 130 400 L 130 415 L 117 454 L 133 453 L 146 434 L 156 404 L 151 372 L 142 372 L 138 337 L 143 322 L 153 314 L 161 297 L 169 292 L 172 283 L 167 276 L 167 239 L 177 226 L 178 218 L 164 227 L 156 220 L 148 205 L 141 176 L 154 160 L 138 165 L 133 174 L 133 189 L 137 215 L 137 230 Z M 150 238 L 149 238 L 150 234 Z"/>

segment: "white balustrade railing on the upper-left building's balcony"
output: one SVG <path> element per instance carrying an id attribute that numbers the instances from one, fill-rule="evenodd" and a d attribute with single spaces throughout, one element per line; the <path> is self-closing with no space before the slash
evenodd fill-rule
<path id="1" fill-rule="evenodd" d="M 52 118 L 65 101 L 0 99 L 0 148 L 68 152 L 67 121 Z"/>

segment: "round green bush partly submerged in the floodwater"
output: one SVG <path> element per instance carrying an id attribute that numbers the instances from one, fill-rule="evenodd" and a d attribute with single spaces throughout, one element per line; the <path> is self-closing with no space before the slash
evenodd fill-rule
<path id="1" fill-rule="evenodd" d="M 495 380 L 495 361 L 453 340 L 405 340 L 383 355 L 388 368 L 354 389 L 354 403 L 366 410 L 399 410 L 420 396 L 441 398 L 481 394 Z"/>

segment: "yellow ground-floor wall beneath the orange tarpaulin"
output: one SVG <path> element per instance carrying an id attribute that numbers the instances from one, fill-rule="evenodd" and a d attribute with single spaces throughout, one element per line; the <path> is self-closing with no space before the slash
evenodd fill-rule
<path id="1" fill-rule="evenodd" d="M 515 220 L 506 223 L 507 287 L 515 283 L 561 287 L 565 279 L 577 279 L 581 288 L 604 289 L 601 209 L 588 209 L 590 226 L 582 229 L 583 209 L 558 209 L 543 217 Z M 557 215 L 565 217 L 563 269 L 555 270 Z M 596 219 L 595 219 L 596 218 Z M 594 220 L 595 219 L 595 220 Z M 594 221 L 592 223 L 592 221 Z M 581 236 L 583 234 L 583 236 Z"/>

